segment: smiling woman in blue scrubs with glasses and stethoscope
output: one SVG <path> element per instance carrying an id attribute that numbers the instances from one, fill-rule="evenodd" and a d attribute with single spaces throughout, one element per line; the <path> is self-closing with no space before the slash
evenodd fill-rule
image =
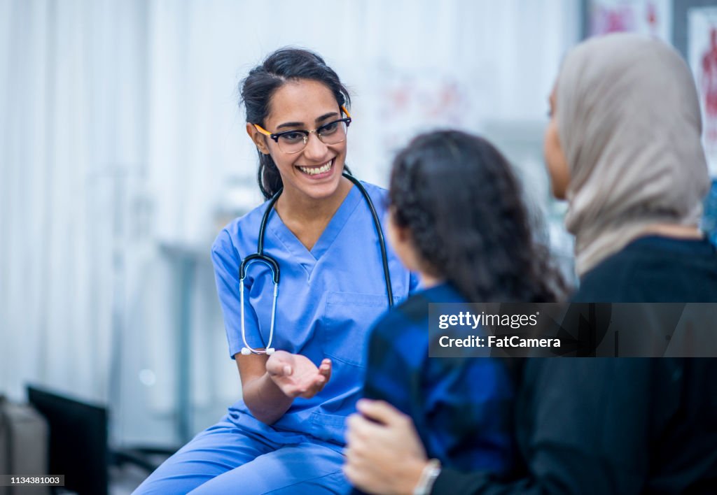
<path id="1" fill-rule="evenodd" d="M 264 235 L 264 254 L 280 269 L 273 332 L 269 266 L 247 267 L 244 337 L 239 290 L 239 266 L 257 252 L 267 201 L 226 226 L 212 249 L 243 399 L 163 463 L 138 494 L 350 490 L 341 471 L 346 416 L 359 398 L 366 332 L 389 299 L 369 203 L 342 176 L 348 92 L 317 54 L 280 49 L 244 80 L 242 100 L 262 193 L 268 200 L 283 188 Z M 383 217 L 386 191 L 364 188 Z M 399 302 L 416 281 L 393 251 L 387 259 Z M 267 347 L 276 351 L 261 353 Z"/>

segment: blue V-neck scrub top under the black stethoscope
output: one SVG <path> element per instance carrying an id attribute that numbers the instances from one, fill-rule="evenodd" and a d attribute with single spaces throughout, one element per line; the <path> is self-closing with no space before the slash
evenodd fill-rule
<path id="1" fill-rule="evenodd" d="M 386 224 L 386 191 L 364 183 L 382 226 Z M 232 221 L 217 236 L 212 259 L 219 301 L 229 341 L 229 355 L 241 352 L 239 263 L 257 251 L 267 203 Z M 385 236 L 384 229 L 384 236 Z M 355 186 L 311 251 L 285 226 L 276 211 L 267 222 L 265 254 L 280 266 L 280 282 L 272 347 L 308 357 L 316 365 L 331 359 L 326 387 L 313 398 L 296 398 L 272 426 L 256 420 L 243 400 L 230 408 L 237 426 L 275 441 L 309 435 L 343 446 L 346 416 L 355 410 L 366 365 L 366 338 L 388 309 L 381 249 L 369 206 Z M 387 245 L 394 304 L 418 284 Z M 251 347 L 269 339 L 273 299 L 271 271 L 253 263 L 244 279 L 244 327 Z M 298 436 L 297 436 L 298 434 Z"/>

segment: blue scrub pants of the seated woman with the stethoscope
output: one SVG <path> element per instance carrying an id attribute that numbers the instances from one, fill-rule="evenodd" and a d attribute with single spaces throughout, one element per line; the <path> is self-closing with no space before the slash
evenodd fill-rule
<path id="1" fill-rule="evenodd" d="M 269 440 L 224 418 L 168 458 L 133 495 L 351 491 L 336 446 L 297 434 L 287 440 Z"/>

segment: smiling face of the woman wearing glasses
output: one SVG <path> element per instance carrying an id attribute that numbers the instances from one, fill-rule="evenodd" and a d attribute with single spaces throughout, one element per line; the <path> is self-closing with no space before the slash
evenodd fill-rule
<path id="1" fill-rule="evenodd" d="M 313 80 L 286 82 L 272 96 L 264 128 L 270 133 L 288 130 L 313 130 L 343 117 L 341 109 L 326 85 Z M 285 153 L 251 124 L 247 132 L 261 153 L 276 163 L 287 198 L 319 200 L 337 193 L 346 160 L 346 140 L 327 145 L 316 133 L 310 133 L 306 147 L 298 153 Z"/>

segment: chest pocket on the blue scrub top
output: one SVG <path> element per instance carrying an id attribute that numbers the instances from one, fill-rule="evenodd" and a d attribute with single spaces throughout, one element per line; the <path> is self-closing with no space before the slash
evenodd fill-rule
<path id="1" fill-rule="evenodd" d="M 324 354 L 366 367 L 369 330 L 387 309 L 384 295 L 329 292 L 320 332 Z"/>

